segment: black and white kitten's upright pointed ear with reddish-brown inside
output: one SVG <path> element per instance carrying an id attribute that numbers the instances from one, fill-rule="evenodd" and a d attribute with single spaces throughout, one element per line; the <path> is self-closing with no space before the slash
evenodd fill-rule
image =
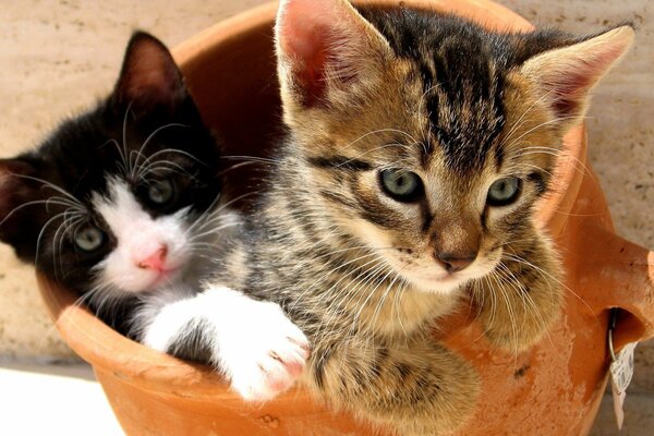
<path id="1" fill-rule="evenodd" d="M 154 36 L 136 32 L 112 94 L 116 102 L 145 112 L 155 107 L 173 109 L 185 95 L 182 74 L 168 48 Z"/>

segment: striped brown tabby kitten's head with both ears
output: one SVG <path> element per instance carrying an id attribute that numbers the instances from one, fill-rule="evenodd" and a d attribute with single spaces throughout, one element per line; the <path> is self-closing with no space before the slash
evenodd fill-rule
<path id="1" fill-rule="evenodd" d="M 633 31 L 497 34 L 437 13 L 287 0 L 276 35 L 303 183 L 405 281 L 450 292 L 540 235 L 533 206 L 562 135 Z"/>

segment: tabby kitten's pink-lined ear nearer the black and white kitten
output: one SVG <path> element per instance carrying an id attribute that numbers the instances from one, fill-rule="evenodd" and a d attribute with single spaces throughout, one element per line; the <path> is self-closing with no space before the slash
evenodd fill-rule
<path id="1" fill-rule="evenodd" d="M 275 27 L 284 107 L 328 107 L 365 88 L 392 50 L 346 0 L 282 0 Z"/>

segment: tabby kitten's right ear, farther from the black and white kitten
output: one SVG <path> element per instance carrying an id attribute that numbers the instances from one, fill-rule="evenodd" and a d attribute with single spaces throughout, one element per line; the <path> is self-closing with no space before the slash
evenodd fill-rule
<path id="1" fill-rule="evenodd" d="M 631 26 L 617 27 L 536 55 L 520 71 L 566 129 L 585 114 L 590 90 L 627 52 L 633 35 Z"/>

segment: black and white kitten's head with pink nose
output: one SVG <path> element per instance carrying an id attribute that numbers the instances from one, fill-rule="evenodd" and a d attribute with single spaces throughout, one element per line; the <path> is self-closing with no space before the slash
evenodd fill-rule
<path id="1" fill-rule="evenodd" d="M 197 253 L 218 154 L 168 49 L 136 33 L 106 100 L 0 160 L 0 239 L 81 292 L 157 289 Z"/>

